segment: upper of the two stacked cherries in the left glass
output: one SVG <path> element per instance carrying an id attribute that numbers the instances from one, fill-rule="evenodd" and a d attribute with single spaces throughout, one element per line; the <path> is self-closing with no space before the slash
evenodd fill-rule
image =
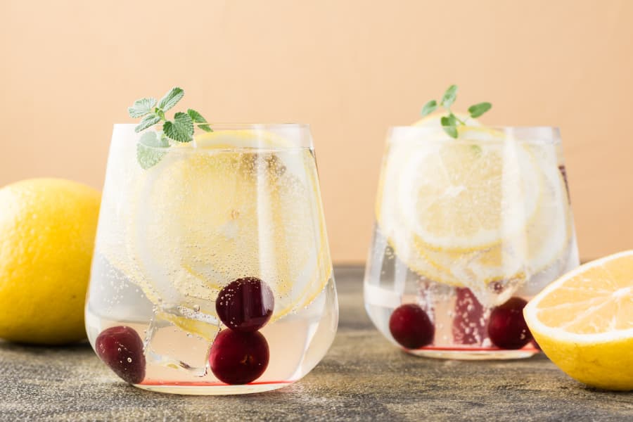
<path id="1" fill-rule="evenodd" d="M 215 310 L 236 331 L 257 331 L 270 319 L 275 298 L 267 283 L 255 277 L 237 279 L 220 290 Z"/>

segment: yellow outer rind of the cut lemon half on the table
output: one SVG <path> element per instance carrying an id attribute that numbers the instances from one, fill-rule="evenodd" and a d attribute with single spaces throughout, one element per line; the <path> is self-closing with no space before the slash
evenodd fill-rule
<path id="1" fill-rule="evenodd" d="M 633 338 L 582 344 L 532 335 L 551 362 L 575 380 L 603 390 L 633 390 Z"/>

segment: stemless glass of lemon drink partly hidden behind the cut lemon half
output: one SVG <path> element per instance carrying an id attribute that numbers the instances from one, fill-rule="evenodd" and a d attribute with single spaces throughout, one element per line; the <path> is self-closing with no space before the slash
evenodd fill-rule
<path id="1" fill-rule="evenodd" d="M 390 129 L 364 300 L 392 343 L 426 357 L 529 357 L 526 300 L 578 264 L 558 129 Z"/>

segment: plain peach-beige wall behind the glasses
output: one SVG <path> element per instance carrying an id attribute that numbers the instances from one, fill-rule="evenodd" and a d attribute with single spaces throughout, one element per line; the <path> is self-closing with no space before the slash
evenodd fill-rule
<path id="1" fill-rule="evenodd" d="M 331 249 L 361 262 L 385 131 L 459 84 L 563 133 L 581 255 L 633 247 L 633 1 L 1 0 L 0 185 L 101 187 L 112 124 L 174 85 L 215 122 L 308 122 Z"/>

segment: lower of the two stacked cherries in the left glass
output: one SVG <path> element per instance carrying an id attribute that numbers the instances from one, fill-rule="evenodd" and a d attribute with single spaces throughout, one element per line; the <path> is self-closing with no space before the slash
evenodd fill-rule
<path id="1" fill-rule="evenodd" d="M 209 356 L 211 371 L 227 384 L 248 384 L 268 367 L 268 342 L 259 331 L 222 330 Z"/>

